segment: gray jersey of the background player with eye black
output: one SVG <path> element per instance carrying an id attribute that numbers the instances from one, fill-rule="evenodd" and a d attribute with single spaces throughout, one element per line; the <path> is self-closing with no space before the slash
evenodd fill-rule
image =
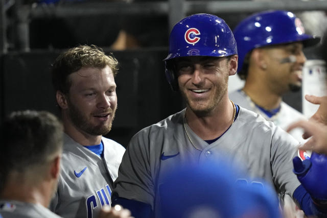
<path id="1" fill-rule="evenodd" d="M 303 114 L 301 114 L 285 102 L 281 103 L 281 109 L 277 114 L 272 117 L 269 117 L 262 110 L 256 107 L 255 104 L 251 101 L 250 97 L 242 90 L 236 90 L 229 93 L 229 99 L 241 107 L 244 107 L 248 110 L 262 115 L 265 119 L 273 122 L 276 126 L 281 127 L 283 130 L 286 130 L 293 122 L 299 119 L 306 118 L 305 116 L 303 116 Z M 300 142 L 305 141 L 302 138 L 303 131 L 301 129 L 294 129 L 290 132 L 290 134 Z"/>

